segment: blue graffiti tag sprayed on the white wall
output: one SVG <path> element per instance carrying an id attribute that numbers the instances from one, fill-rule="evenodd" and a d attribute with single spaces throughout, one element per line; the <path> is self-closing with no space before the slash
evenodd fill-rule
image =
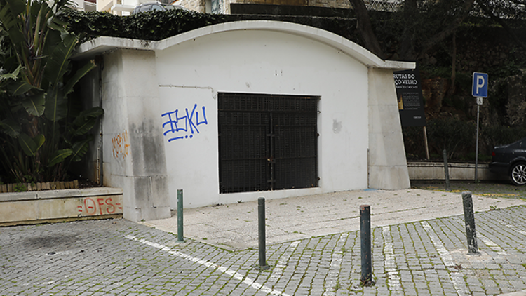
<path id="1" fill-rule="evenodd" d="M 168 130 L 166 130 L 163 133 L 163 135 L 166 137 L 166 135 L 168 135 L 169 133 L 171 133 L 170 135 L 177 133 L 177 137 L 170 137 L 168 139 L 168 142 L 188 138 L 191 139 L 192 137 L 194 137 L 194 133 L 199 133 L 197 126 L 200 126 L 201 124 L 208 124 L 208 121 L 206 119 L 205 106 L 202 107 L 202 121 L 199 121 L 199 112 L 196 112 L 196 108 L 197 104 L 194 105 L 194 109 L 191 109 L 190 114 L 188 113 L 188 108 L 184 109 L 186 114 L 183 114 L 183 116 L 180 116 L 178 114 L 180 111 L 179 109 L 176 109 L 173 112 L 166 112 L 164 114 L 161 114 L 161 117 L 168 116 L 168 121 L 165 121 L 163 123 L 163 130 L 166 126 L 168 126 Z M 188 127 L 190 127 L 190 135 L 180 135 L 180 132 L 189 133 Z"/>

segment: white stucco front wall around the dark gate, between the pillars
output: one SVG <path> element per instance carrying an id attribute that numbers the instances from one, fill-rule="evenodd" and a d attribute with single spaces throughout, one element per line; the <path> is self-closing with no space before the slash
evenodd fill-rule
<path id="1" fill-rule="evenodd" d="M 157 51 L 163 112 L 204 106 L 208 124 L 165 149 L 170 196 L 184 190 L 187 206 L 367 188 L 367 67 L 332 46 L 269 31 L 221 32 Z M 219 194 L 217 93 L 321 97 L 319 188 Z M 168 130 L 166 126 L 165 130 Z M 189 132 L 179 132 L 181 136 Z M 294 192 L 296 191 L 296 192 Z M 173 199 L 170 204 L 173 204 Z M 174 204 L 173 204 L 174 205 Z"/>

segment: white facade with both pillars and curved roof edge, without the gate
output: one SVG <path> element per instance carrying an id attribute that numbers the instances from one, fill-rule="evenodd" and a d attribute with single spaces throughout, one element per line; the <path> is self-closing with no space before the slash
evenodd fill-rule
<path id="1" fill-rule="evenodd" d="M 229 22 L 159 42 L 101 37 L 76 58 L 100 53 L 104 184 L 123 188 L 130 220 L 167 217 L 177 189 L 185 207 L 197 207 L 409 187 L 393 70 L 413 63 L 383 61 L 341 36 L 273 21 Z M 222 92 L 320 97 L 319 186 L 220 194 Z M 193 123 L 176 135 L 163 116 L 175 111 Z M 178 139 L 168 142 L 167 132 Z"/>

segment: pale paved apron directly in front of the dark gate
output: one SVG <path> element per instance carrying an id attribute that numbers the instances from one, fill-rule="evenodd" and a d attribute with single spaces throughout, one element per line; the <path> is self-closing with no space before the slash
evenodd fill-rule
<path id="1" fill-rule="evenodd" d="M 525 204 L 521 199 L 473 196 L 476 211 Z M 360 205 L 370 205 L 371 227 L 464 215 L 461 193 L 449 191 L 367 189 L 266 200 L 267 243 L 360 230 Z M 177 234 L 176 214 L 144 224 Z M 184 236 L 196 241 L 228 250 L 257 247 L 257 201 L 189 208 L 183 217 Z"/>

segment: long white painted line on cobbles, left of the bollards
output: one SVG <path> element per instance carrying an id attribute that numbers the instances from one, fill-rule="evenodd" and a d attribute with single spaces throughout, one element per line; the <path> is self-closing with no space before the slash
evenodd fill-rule
<path id="1" fill-rule="evenodd" d="M 267 293 L 269 295 L 289 296 L 288 294 L 285 294 L 284 292 L 273 290 L 272 288 L 269 288 L 269 287 L 267 287 L 265 285 L 262 285 L 260 283 L 256 283 L 255 280 L 253 280 L 252 278 L 249 278 L 248 276 L 243 276 L 243 274 L 239 274 L 236 271 L 233 271 L 231 269 L 227 269 L 227 267 L 222 267 L 222 266 L 220 266 L 218 264 L 215 264 L 214 262 L 210 262 L 210 261 L 207 261 L 207 260 L 202 260 L 202 259 L 199 259 L 199 258 L 191 256 L 191 255 L 187 255 L 187 254 L 175 251 L 175 250 L 171 250 L 170 248 L 166 247 L 165 245 L 161 245 L 159 243 L 152 243 L 151 241 L 147 241 L 147 240 L 142 239 L 142 238 L 136 238 L 135 236 L 128 235 L 128 236 L 125 236 L 125 237 L 130 239 L 130 240 L 132 240 L 132 241 L 138 241 L 140 243 L 144 243 L 144 245 L 149 245 L 151 247 L 158 248 L 159 250 L 163 250 L 163 251 L 168 252 L 168 253 L 170 253 L 172 255 L 175 255 L 177 257 L 182 257 L 182 258 L 184 258 L 184 259 L 186 259 L 186 260 L 188 260 L 190 262 L 195 262 L 195 263 L 204 265 L 205 267 L 210 267 L 212 269 L 217 269 L 217 270 L 221 271 L 224 274 L 227 274 L 227 275 L 229 275 L 229 276 L 231 276 L 233 278 L 236 278 L 236 280 L 241 281 L 245 285 L 249 285 L 250 287 L 254 288 L 255 290 L 260 290 L 260 291 L 265 292 L 265 293 Z"/>

